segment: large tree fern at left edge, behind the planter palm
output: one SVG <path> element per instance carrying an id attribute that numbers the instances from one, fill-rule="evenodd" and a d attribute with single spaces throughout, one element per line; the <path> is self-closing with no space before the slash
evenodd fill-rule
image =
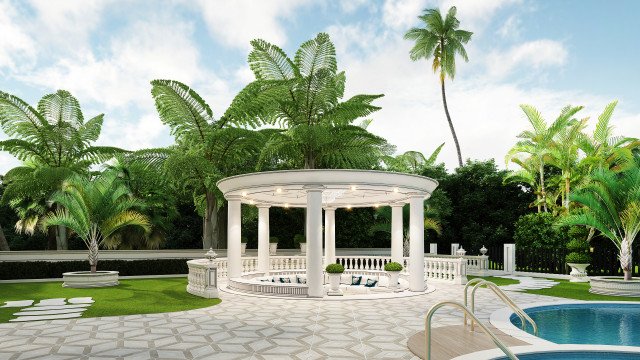
<path id="1" fill-rule="evenodd" d="M 10 137 L 0 141 L 7 151 L 23 162 L 5 175 L 4 203 L 13 204 L 21 217 L 18 230 L 32 231 L 42 215 L 49 211 L 49 196 L 60 189 L 71 174 L 85 174 L 123 150 L 93 146 L 100 136 L 104 115 L 88 121 L 80 103 L 69 92 L 59 90 L 38 102 L 37 110 L 20 98 L 0 91 L 0 127 Z M 43 212 L 26 211 L 45 209 Z M 25 226 L 28 225 L 28 226 Z M 66 229 L 56 229 L 58 249 L 66 249 Z"/>

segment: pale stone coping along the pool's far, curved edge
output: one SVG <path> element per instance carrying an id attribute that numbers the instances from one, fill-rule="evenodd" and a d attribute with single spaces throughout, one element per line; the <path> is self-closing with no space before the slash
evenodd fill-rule
<path id="1" fill-rule="evenodd" d="M 522 306 L 522 310 L 542 307 L 542 306 L 556 306 L 556 305 L 571 305 L 571 304 L 639 304 L 638 301 L 586 301 L 586 300 L 561 300 L 561 301 L 545 301 L 545 302 L 537 302 L 531 303 Z M 496 310 L 491 313 L 489 317 L 489 322 L 495 326 L 498 330 L 503 333 L 513 336 L 516 339 L 527 342 L 531 345 L 538 346 L 548 346 L 548 345 L 559 345 L 554 342 L 544 340 L 535 335 L 529 334 L 526 331 L 519 329 L 517 326 L 511 323 L 511 315 L 514 312 L 509 307 L 504 307 L 502 309 Z M 614 346 L 614 345 L 603 345 L 603 346 Z M 631 346 L 633 348 L 633 346 Z M 640 351 L 640 347 L 638 347 L 638 351 Z"/>

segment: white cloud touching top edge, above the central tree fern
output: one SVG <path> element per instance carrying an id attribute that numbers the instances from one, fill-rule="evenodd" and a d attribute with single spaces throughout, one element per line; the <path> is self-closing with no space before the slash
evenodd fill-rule
<path id="1" fill-rule="evenodd" d="M 280 23 L 293 16 L 307 0 L 200 0 L 197 2 L 209 33 L 223 44 L 249 49 L 249 41 L 261 38 L 283 46 L 287 34 Z"/>

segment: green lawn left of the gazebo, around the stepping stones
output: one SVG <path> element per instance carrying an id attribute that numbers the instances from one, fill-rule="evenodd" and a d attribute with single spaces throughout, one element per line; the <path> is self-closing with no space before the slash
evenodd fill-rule
<path id="1" fill-rule="evenodd" d="M 114 287 L 63 288 L 61 282 L 0 284 L 0 304 L 9 300 L 36 300 L 90 296 L 95 300 L 83 318 L 153 314 L 217 305 L 220 299 L 205 299 L 187 293 L 187 278 L 120 280 Z M 19 308 L 0 308 L 0 323 L 14 318 Z"/>

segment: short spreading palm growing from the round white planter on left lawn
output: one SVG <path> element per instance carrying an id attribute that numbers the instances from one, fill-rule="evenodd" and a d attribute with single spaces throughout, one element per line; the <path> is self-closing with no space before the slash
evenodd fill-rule
<path id="1" fill-rule="evenodd" d="M 91 272 L 96 272 L 99 247 L 128 226 L 150 231 L 149 219 L 138 212 L 144 203 L 130 196 L 117 174 L 107 171 L 95 179 L 73 175 L 52 196 L 60 205 L 43 226 L 62 225 L 73 230 L 89 249 Z"/>

